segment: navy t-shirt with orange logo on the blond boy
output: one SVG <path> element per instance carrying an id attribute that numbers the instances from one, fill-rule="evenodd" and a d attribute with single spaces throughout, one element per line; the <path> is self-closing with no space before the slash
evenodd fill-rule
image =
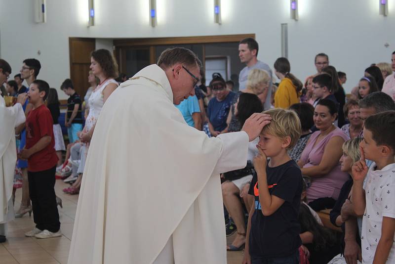
<path id="1" fill-rule="evenodd" d="M 252 177 L 249 194 L 254 195 L 255 211 L 251 217 L 249 252 L 253 259 L 287 257 L 302 245 L 298 213 L 303 189 L 302 172 L 294 160 L 280 166 L 266 167 L 269 192 L 285 202 L 265 217 L 259 202 L 258 178 Z"/>

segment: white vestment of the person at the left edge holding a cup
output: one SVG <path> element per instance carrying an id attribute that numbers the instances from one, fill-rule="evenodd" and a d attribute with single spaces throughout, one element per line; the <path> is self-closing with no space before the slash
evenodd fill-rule
<path id="1" fill-rule="evenodd" d="M 6 107 L 0 96 L 0 223 L 12 220 L 12 186 L 16 165 L 15 127 L 25 122 L 20 103 Z"/>

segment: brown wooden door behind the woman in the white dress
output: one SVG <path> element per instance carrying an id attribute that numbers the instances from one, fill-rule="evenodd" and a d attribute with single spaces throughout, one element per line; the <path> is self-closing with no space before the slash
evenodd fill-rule
<path id="1" fill-rule="evenodd" d="M 90 52 L 95 50 L 95 39 L 69 38 L 69 48 L 70 79 L 73 81 L 76 92 L 83 99 L 89 88 Z"/>

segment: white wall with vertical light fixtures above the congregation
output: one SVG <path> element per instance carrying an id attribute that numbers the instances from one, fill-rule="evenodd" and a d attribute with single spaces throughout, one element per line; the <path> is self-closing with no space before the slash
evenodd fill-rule
<path id="1" fill-rule="evenodd" d="M 39 78 L 59 87 L 70 75 L 69 37 L 255 33 L 258 58 L 272 66 L 281 55 L 280 24 L 288 23 L 291 71 L 304 81 L 315 72 L 315 54 L 325 52 L 332 65 L 348 74 L 350 91 L 367 66 L 389 62 L 395 50 L 395 0 L 389 0 L 388 17 L 379 15 L 378 2 L 299 0 L 299 21 L 293 21 L 289 0 L 222 0 L 222 25 L 218 25 L 213 22 L 213 0 L 158 0 L 158 26 L 152 28 L 148 0 L 95 0 L 96 25 L 88 28 L 87 0 L 47 0 L 45 24 L 34 23 L 33 0 L 0 0 L 0 54 L 11 64 L 13 74 L 23 59 L 39 59 Z"/>

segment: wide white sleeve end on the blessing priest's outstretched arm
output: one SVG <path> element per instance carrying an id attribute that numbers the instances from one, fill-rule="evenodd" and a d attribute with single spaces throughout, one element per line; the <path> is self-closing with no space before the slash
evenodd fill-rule
<path id="1" fill-rule="evenodd" d="M 214 168 L 213 174 L 221 174 L 247 165 L 248 135 L 246 132 L 231 132 L 220 134 L 217 138 L 222 141 L 221 156 Z"/>

